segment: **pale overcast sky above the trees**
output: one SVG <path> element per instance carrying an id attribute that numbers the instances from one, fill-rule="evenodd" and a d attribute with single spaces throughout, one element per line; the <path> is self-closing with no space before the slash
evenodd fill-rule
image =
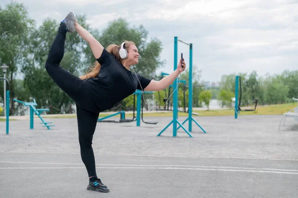
<path id="1" fill-rule="evenodd" d="M 69 11 L 99 30 L 119 17 L 144 25 L 163 45 L 164 72 L 173 70 L 174 36 L 193 44 L 193 65 L 205 81 L 223 74 L 259 75 L 298 69 L 298 0 L 15 0 L 39 26 Z M 3 7 L 10 0 L 0 0 Z M 178 46 L 189 64 L 189 47 Z"/>

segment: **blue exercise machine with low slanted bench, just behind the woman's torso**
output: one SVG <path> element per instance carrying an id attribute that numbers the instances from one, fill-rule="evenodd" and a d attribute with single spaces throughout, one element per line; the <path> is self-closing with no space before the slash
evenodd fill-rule
<path id="1" fill-rule="evenodd" d="M 133 93 L 134 95 L 134 105 L 133 105 L 133 118 L 132 119 L 126 119 L 125 118 L 125 111 L 119 111 L 114 114 L 105 116 L 103 118 L 98 118 L 97 122 L 113 122 L 113 123 L 127 123 L 127 122 L 135 122 L 137 121 L 137 127 L 141 126 L 141 120 L 146 124 L 157 124 L 157 122 L 147 122 L 144 121 L 143 118 L 143 93 L 154 93 L 153 91 L 141 91 L 137 90 Z M 136 97 L 137 97 L 137 116 L 135 116 L 135 103 L 136 103 Z M 142 110 L 141 110 L 142 109 Z M 113 121 L 113 120 L 106 120 L 108 118 L 114 117 L 120 115 L 119 121 Z"/>

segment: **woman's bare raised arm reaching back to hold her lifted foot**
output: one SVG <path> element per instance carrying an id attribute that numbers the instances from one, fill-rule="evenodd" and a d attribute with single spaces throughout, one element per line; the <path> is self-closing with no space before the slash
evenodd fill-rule
<path id="1" fill-rule="evenodd" d="M 98 59 L 103 51 L 102 45 L 90 34 L 90 32 L 88 32 L 80 24 L 78 24 L 77 21 L 75 23 L 75 30 L 78 35 L 82 37 L 82 39 L 89 43 L 95 59 Z"/>

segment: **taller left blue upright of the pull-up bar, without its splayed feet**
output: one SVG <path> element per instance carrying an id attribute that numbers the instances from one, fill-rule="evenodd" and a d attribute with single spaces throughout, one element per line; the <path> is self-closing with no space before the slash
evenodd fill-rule
<path id="1" fill-rule="evenodd" d="M 174 71 L 177 69 L 178 58 L 178 37 L 174 37 Z M 173 87 L 177 87 L 177 78 L 174 80 Z M 173 94 L 173 137 L 177 136 L 177 114 L 178 114 L 178 91 Z"/>

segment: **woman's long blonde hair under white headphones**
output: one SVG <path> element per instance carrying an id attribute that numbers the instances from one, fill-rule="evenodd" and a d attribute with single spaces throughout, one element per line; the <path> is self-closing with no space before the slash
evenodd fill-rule
<path id="1" fill-rule="evenodd" d="M 124 41 L 124 42 L 125 42 L 125 44 L 124 44 L 123 48 L 126 49 L 127 52 L 128 52 L 128 49 L 129 49 L 130 45 L 136 45 L 132 41 Z M 120 55 L 119 55 L 120 48 L 121 48 L 121 45 L 118 46 L 116 44 L 111 44 L 107 47 L 107 51 L 109 53 L 111 53 L 117 59 L 117 61 L 122 63 L 123 60 L 120 58 Z M 88 79 L 90 77 L 95 78 L 98 75 L 99 71 L 100 71 L 100 67 L 101 67 L 100 64 L 96 61 L 93 64 L 93 66 L 90 66 L 88 71 L 84 75 L 79 76 L 79 78 L 80 79 Z"/>

